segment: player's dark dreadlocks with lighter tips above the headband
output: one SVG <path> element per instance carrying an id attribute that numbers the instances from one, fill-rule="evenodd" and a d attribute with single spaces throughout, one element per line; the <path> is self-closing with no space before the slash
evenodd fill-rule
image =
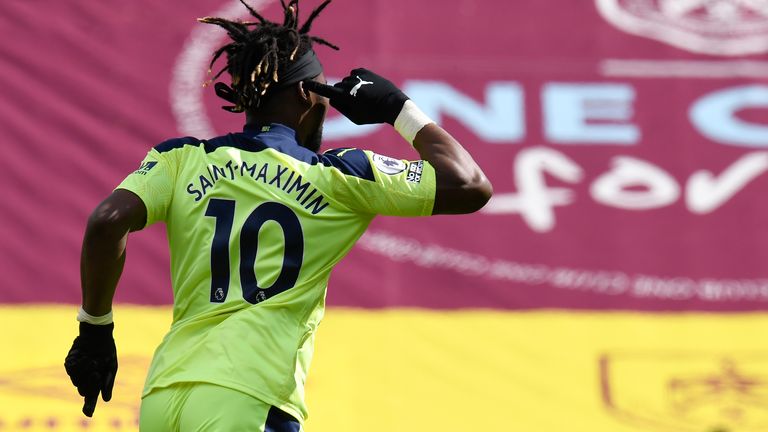
<path id="1" fill-rule="evenodd" d="M 234 106 L 222 108 L 236 113 L 255 109 L 268 96 L 267 90 L 270 86 L 276 88 L 294 84 L 294 82 L 288 82 L 289 79 L 279 81 L 281 81 L 281 77 L 285 78 L 284 74 L 291 72 L 290 68 L 294 64 L 300 63 L 303 56 L 311 54 L 312 59 L 315 59 L 312 52 L 313 42 L 338 50 L 336 45 L 308 34 L 312 22 L 330 2 L 331 0 L 325 0 L 315 8 L 301 27 L 299 27 L 299 0 L 290 0 L 288 3 L 285 0 L 280 0 L 284 13 L 282 24 L 265 19 L 245 0 L 240 0 L 240 3 L 258 21 L 230 21 L 214 17 L 199 18 L 198 21 L 202 23 L 222 27 L 232 39 L 232 42 L 213 53 L 213 59 L 209 66 L 213 69 L 216 60 L 222 54 L 227 54 L 227 65 L 211 79 L 211 81 L 217 79 L 224 71 L 229 72 L 232 77 L 231 87 L 221 82 L 214 86 L 219 97 L 234 104 Z M 295 75 L 292 78 L 297 78 Z"/>

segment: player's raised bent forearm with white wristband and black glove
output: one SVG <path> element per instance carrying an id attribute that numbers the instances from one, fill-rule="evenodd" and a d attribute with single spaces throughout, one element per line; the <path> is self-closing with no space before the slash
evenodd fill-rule
<path id="1" fill-rule="evenodd" d="M 432 214 L 472 213 L 491 198 L 491 183 L 466 149 L 387 79 L 355 69 L 333 86 L 316 81 L 304 86 L 328 97 L 355 124 L 389 123 L 411 142 L 435 170 Z"/>

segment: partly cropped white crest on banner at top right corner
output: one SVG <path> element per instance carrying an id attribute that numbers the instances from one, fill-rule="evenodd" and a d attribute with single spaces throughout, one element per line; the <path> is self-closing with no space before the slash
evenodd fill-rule
<path id="1" fill-rule="evenodd" d="M 595 0 L 618 29 L 721 56 L 768 51 L 768 0 Z"/>

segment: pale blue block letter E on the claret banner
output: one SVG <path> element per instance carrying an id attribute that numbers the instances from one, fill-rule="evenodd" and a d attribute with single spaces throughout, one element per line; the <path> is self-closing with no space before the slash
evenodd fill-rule
<path id="1" fill-rule="evenodd" d="M 544 132 L 553 143 L 632 145 L 640 139 L 637 126 L 618 123 L 632 117 L 635 89 L 629 84 L 550 83 L 541 99 Z"/>

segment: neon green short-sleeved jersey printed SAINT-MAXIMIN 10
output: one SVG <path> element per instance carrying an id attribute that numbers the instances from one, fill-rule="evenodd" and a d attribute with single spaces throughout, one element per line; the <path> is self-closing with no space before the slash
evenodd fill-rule
<path id="1" fill-rule="evenodd" d="M 435 172 L 358 149 L 313 153 L 273 124 L 153 148 L 118 188 L 164 221 L 173 324 L 144 394 L 177 382 L 243 391 L 304 421 L 328 278 L 377 214 L 432 213 Z"/>

